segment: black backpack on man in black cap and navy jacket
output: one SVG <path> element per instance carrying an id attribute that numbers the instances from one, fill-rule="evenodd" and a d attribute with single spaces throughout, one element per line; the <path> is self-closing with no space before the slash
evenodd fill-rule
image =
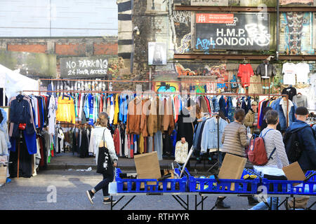
<path id="1" fill-rule="evenodd" d="M 301 154 L 303 152 L 303 146 L 301 146 L 301 143 L 298 139 L 298 132 L 303 130 L 305 127 L 310 127 L 308 125 L 298 128 L 294 131 L 287 130 L 283 137 L 283 142 L 285 146 L 285 151 L 287 153 L 287 158 L 289 162 L 296 162 L 301 157 Z M 314 130 L 312 130 L 313 135 Z"/>

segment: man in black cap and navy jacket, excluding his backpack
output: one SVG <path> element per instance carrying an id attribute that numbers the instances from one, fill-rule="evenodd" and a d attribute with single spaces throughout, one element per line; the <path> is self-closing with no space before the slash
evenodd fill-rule
<path id="1" fill-rule="evenodd" d="M 298 164 L 305 173 L 308 170 L 316 169 L 316 138 L 312 128 L 305 123 L 305 120 L 308 118 L 308 109 L 303 106 L 298 107 L 295 111 L 295 117 L 296 121 L 291 123 L 289 130 L 294 131 L 306 126 L 297 132 L 299 144 L 302 147 L 302 155 L 298 159 Z M 307 203 L 308 197 L 298 197 L 295 201 L 295 208 L 305 209 Z M 293 204 L 293 201 L 289 201 L 287 209 L 293 208 Z"/>

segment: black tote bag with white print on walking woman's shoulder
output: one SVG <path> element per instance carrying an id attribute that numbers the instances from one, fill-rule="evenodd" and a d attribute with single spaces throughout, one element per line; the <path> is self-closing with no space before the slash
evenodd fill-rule
<path id="1" fill-rule="evenodd" d="M 99 145 L 97 173 L 113 174 L 113 170 L 114 170 L 113 162 L 111 160 L 109 149 L 107 148 L 107 145 L 105 142 L 104 132 L 103 132 L 103 137 L 102 137 L 103 146 Z"/>

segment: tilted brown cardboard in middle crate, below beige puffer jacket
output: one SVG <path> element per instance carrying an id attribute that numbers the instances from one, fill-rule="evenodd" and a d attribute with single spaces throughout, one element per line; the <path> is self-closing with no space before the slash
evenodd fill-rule
<path id="1" fill-rule="evenodd" d="M 246 162 L 246 158 L 226 153 L 223 164 L 220 167 L 218 179 L 241 179 Z M 230 190 L 235 190 L 235 183 L 232 183 Z"/>

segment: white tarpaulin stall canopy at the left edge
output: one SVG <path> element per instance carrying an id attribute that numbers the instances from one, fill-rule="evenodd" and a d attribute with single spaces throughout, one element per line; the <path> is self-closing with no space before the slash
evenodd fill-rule
<path id="1" fill-rule="evenodd" d="M 12 71 L 0 64 L 0 87 L 5 88 L 8 100 L 15 97 L 23 90 L 39 90 L 37 80 L 23 76 L 16 71 Z M 39 92 L 26 92 L 26 94 L 39 94 Z"/>

